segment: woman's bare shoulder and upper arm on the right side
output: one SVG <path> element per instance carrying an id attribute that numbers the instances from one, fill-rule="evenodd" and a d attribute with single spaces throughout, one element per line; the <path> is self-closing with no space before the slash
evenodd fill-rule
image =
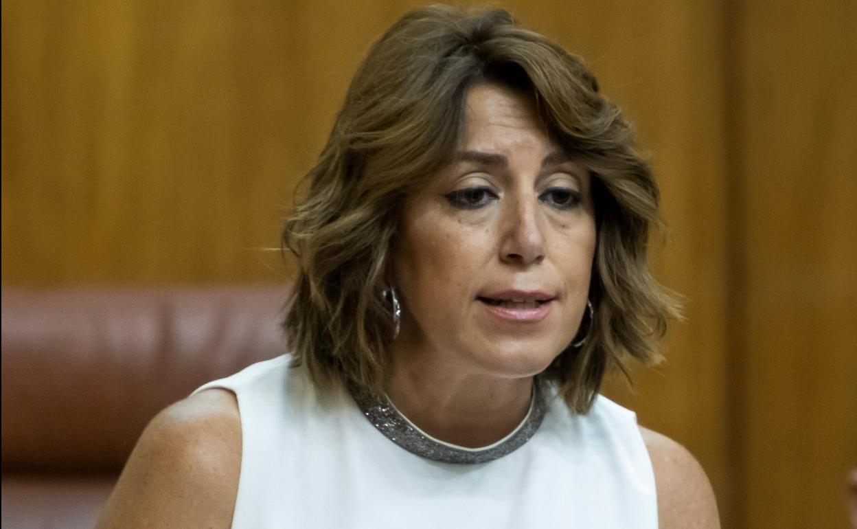
<path id="1" fill-rule="evenodd" d="M 696 458 L 668 436 L 639 430 L 655 472 L 660 528 L 720 527 L 714 492 Z"/>

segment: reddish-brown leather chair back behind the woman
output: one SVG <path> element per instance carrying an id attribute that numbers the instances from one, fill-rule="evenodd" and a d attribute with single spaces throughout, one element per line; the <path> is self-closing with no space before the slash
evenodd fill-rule
<path id="1" fill-rule="evenodd" d="M 2 298 L 4 527 L 93 526 L 159 410 L 285 351 L 275 286 Z"/>

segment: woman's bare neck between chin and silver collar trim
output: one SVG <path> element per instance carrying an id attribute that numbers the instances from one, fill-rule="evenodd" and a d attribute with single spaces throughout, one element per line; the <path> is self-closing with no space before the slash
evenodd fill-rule
<path id="1" fill-rule="evenodd" d="M 441 441 L 479 448 L 500 441 L 530 410 L 533 377 L 502 378 L 397 351 L 387 396 L 412 423 Z"/>

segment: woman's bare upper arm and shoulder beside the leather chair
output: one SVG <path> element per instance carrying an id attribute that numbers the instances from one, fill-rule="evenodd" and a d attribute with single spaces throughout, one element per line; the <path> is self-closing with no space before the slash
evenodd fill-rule
<path id="1" fill-rule="evenodd" d="M 147 426 L 97 527 L 229 527 L 240 469 L 235 395 L 195 394 Z"/>

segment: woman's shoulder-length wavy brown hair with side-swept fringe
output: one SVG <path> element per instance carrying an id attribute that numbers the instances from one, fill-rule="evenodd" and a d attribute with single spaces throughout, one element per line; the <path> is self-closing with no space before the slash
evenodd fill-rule
<path id="1" fill-rule="evenodd" d="M 650 274 L 646 246 L 658 189 L 620 110 L 580 58 L 520 27 L 505 10 L 416 9 L 387 30 L 357 69 L 345 104 L 283 231 L 297 257 L 285 331 L 293 365 L 320 388 L 380 391 L 393 320 L 384 297 L 405 199 L 434 177 L 458 143 L 470 87 L 529 94 L 554 141 L 592 174 L 596 255 L 592 320 L 542 377 L 588 412 L 605 372 L 627 357 L 660 359 L 677 306 Z"/>

